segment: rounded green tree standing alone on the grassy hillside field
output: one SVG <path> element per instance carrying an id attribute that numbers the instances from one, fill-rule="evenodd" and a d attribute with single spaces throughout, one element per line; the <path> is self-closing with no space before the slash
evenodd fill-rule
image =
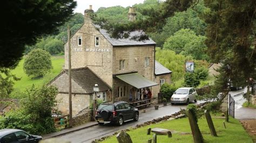
<path id="1" fill-rule="evenodd" d="M 52 69 L 51 55 L 43 49 L 33 49 L 26 57 L 23 69 L 28 76 L 44 76 Z"/>

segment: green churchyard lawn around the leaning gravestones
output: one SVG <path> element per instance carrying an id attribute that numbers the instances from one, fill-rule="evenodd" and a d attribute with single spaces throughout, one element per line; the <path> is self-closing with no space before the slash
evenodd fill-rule
<path id="1" fill-rule="evenodd" d="M 225 121 L 225 119 L 213 118 L 213 124 L 218 137 L 212 137 L 206 119 L 201 118 L 198 120 L 199 128 L 205 142 L 253 142 L 252 138 L 246 133 L 238 120 L 230 117 L 230 122 L 226 123 L 226 129 L 223 127 L 223 121 Z M 153 138 L 153 133 L 150 135 L 146 134 L 147 128 L 149 127 L 160 127 L 174 131 L 172 132 L 172 138 L 168 138 L 167 135 L 157 135 L 157 142 L 193 142 L 188 118 L 163 121 L 159 124 L 152 124 L 136 130 L 130 130 L 127 133 L 130 134 L 133 142 L 147 142 L 148 139 Z M 103 142 L 117 142 L 116 135 Z"/>

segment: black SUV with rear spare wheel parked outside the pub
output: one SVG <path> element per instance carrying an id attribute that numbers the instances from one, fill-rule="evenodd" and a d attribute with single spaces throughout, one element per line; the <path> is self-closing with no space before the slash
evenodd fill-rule
<path id="1" fill-rule="evenodd" d="M 137 121 L 139 119 L 139 111 L 124 101 L 111 104 L 103 103 L 99 105 L 95 118 L 99 125 L 103 125 L 104 123 L 123 125 L 125 121 Z"/>

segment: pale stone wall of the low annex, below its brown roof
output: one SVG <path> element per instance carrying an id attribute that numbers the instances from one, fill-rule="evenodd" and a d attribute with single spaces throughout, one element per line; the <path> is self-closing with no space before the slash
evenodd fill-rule
<path id="1" fill-rule="evenodd" d="M 72 94 L 72 116 L 76 116 L 77 113 L 90 105 L 90 95 L 87 94 Z M 58 101 L 58 110 L 63 114 L 69 114 L 69 94 L 59 93 L 56 96 Z"/>

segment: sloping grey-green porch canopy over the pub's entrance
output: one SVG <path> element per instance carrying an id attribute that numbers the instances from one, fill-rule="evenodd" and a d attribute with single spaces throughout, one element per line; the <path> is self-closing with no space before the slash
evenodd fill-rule
<path id="1" fill-rule="evenodd" d="M 136 87 L 137 89 L 153 87 L 158 85 L 158 83 L 152 82 L 138 73 L 116 75 L 116 77 L 132 85 L 133 87 Z"/>

